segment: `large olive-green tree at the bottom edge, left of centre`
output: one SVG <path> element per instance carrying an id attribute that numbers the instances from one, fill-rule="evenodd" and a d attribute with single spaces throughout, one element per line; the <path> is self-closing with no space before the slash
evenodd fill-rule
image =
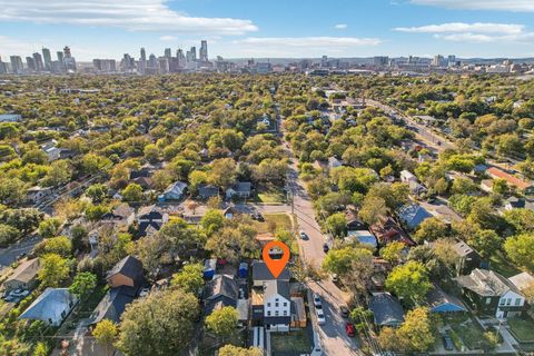
<path id="1" fill-rule="evenodd" d="M 126 355 L 181 355 L 194 340 L 198 300 L 179 289 L 151 293 L 121 316 L 117 347 Z"/>

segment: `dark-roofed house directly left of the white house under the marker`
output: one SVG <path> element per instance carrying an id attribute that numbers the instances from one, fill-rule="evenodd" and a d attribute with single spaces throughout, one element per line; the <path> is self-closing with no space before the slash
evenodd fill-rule
<path id="1" fill-rule="evenodd" d="M 222 308 L 237 307 L 239 299 L 239 285 L 231 276 L 217 275 L 208 281 L 204 293 L 204 307 L 206 314 Z"/>

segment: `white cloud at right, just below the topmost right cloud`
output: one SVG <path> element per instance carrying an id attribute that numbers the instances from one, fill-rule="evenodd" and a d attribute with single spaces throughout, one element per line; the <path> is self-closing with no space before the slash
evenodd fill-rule
<path id="1" fill-rule="evenodd" d="M 525 27 L 515 23 L 464 23 L 449 22 L 442 24 L 428 24 L 421 27 L 397 27 L 394 31 L 416 32 L 416 33 L 447 33 L 447 32 L 471 32 L 471 33 L 502 33 L 517 34 L 522 33 Z"/>

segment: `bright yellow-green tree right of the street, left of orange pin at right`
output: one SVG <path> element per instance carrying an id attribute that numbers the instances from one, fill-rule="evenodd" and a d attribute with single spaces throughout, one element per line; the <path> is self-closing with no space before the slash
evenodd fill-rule
<path id="1" fill-rule="evenodd" d="M 425 266 L 411 260 L 392 270 L 386 279 L 386 288 L 400 298 L 417 303 L 426 297 L 427 291 L 432 288 L 432 284 Z"/>

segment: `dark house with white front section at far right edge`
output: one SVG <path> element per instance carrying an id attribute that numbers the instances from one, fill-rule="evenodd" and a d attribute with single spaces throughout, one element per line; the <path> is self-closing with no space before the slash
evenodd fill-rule
<path id="1" fill-rule="evenodd" d="M 464 298 L 483 314 L 502 319 L 521 315 L 524 310 L 523 293 L 496 271 L 475 268 L 455 280 L 462 287 Z"/>

